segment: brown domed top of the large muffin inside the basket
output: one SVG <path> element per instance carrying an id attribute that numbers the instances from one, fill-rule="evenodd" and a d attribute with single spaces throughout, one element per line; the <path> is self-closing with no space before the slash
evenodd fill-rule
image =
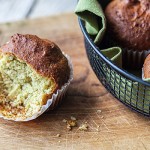
<path id="1" fill-rule="evenodd" d="M 113 0 L 105 15 L 108 32 L 120 46 L 137 51 L 150 49 L 149 0 Z"/>

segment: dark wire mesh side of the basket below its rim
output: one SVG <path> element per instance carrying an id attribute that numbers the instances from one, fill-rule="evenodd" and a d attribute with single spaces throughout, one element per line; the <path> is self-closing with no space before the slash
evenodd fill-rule
<path id="1" fill-rule="evenodd" d="M 86 38 L 85 48 L 96 76 L 106 89 L 129 107 L 150 116 L 150 87 L 115 71 L 99 56 Z"/>

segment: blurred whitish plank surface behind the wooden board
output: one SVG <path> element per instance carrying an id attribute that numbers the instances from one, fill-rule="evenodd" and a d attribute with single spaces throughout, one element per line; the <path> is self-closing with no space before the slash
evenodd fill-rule
<path id="1" fill-rule="evenodd" d="M 76 3 L 77 0 L 0 0 L 0 23 L 73 12 Z"/>

